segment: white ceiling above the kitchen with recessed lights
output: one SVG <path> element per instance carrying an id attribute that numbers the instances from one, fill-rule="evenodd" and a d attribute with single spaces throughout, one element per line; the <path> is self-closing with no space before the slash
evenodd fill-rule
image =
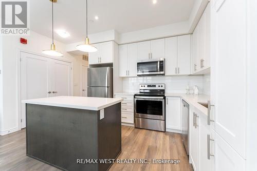
<path id="1" fill-rule="evenodd" d="M 51 37 L 51 2 L 30 2 L 30 28 Z M 195 0 L 88 0 L 88 32 L 115 29 L 131 32 L 189 19 Z M 95 15 L 99 20 L 95 20 Z M 85 0 L 58 0 L 54 4 L 54 29 L 64 29 L 70 37 L 55 34 L 54 39 L 65 44 L 81 42 L 85 36 Z"/>

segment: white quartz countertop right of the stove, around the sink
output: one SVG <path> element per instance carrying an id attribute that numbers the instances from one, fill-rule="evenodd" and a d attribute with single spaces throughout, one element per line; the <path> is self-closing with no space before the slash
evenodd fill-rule
<path id="1" fill-rule="evenodd" d="M 208 109 L 207 107 L 204 107 L 203 105 L 200 105 L 200 103 L 208 103 L 208 100 L 210 100 L 210 96 L 206 94 L 185 94 L 185 93 L 165 93 L 165 96 L 167 97 L 181 97 L 184 101 L 186 101 L 189 106 L 194 106 L 196 109 L 200 110 L 205 115 L 208 115 Z"/>

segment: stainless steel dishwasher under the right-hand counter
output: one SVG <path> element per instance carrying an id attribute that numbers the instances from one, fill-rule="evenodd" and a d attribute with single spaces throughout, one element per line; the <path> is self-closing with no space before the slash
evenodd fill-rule
<path id="1" fill-rule="evenodd" d="M 182 117 L 182 122 L 181 122 L 181 133 L 182 133 L 182 141 L 183 144 L 186 148 L 187 154 L 189 155 L 189 150 L 188 150 L 188 143 L 189 143 L 189 104 L 182 100 L 181 103 L 181 117 Z"/>

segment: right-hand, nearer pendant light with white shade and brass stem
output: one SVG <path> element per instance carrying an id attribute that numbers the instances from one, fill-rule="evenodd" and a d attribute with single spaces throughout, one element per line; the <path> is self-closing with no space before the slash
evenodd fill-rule
<path id="1" fill-rule="evenodd" d="M 83 51 L 83 52 L 96 52 L 97 48 L 95 46 L 92 46 L 89 44 L 89 39 L 87 37 L 87 0 L 86 0 L 86 39 L 85 39 L 85 43 L 83 45 L 78 45 L 76 46 L 76 49 Z"/>

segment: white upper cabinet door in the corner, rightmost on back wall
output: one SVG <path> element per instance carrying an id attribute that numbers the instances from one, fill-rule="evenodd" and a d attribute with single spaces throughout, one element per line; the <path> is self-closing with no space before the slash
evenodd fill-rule
<path id="1" fill-rule="evenodd" d="M 177 73 L 190 74 L 191 64 L 191 35 L 177 37 Z"/>

